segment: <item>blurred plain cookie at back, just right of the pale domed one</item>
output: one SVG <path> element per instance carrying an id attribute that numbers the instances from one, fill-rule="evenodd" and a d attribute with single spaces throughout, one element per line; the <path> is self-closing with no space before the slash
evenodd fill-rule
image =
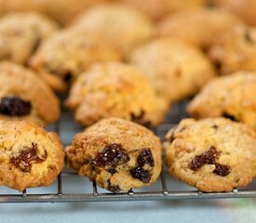
<path id="1" fill-rule="evenodd" d="M 158 34 L 181 39 L 207 49 L 236 24 L 232 14 L 218 8 L 196 8 L 171 14 L 158 24 Z"/>

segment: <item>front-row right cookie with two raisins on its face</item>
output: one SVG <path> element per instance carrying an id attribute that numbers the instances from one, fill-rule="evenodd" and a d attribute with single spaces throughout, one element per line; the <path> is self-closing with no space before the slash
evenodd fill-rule
<path id="1" fill-rule="evenodd" d="M 224 118 L 185 119 L 166 136 L 168 172 L 206 192 L 244 187 L 256 174 L 256 135 Z"/>

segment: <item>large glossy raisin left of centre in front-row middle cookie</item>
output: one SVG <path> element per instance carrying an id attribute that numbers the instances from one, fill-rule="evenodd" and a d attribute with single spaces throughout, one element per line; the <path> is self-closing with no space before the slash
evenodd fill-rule
<path id="1" fill-rule="evenodd" d="M 89 164 L 100 167 L 105 165 L 115 167 L 117 164 L 125 164 L 128 161 L 128 153 L 125 152 L 122 145 L 114 143 L 106 146 L 102 152 L 99 152 L 96 157 L 89 162 Z"/>

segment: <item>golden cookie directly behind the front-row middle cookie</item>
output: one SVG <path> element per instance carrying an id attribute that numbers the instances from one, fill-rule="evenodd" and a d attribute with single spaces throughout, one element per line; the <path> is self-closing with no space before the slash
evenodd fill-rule
<path id="1" fill-rule="evenodd" d="M 168 103 L 141 72 L 115 62 L 96 64 L 80 74 L 66 105 L 74 112 L 75 120 L 86 126 L 108 117 L 155 126 L 168 110 Z"/>

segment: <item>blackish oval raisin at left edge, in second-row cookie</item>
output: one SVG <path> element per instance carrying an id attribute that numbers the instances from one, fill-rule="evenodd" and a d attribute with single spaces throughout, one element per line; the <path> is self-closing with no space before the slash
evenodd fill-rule
<path id="1" fill-rule="evenodd" d="M 0 102 L 0 113 L 8 116 L 23 116 L 31 112 L 30 101 L 19 97 L 5 97 Z"/>

